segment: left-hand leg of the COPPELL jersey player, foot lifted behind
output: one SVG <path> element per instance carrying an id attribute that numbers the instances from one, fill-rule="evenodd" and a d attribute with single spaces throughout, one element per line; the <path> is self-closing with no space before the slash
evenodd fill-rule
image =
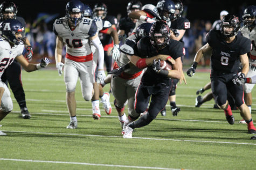
<path id="1" fill-rule="evenodd" d="M 225 112 L 226 120 L 230 124 L 234 124 L 234 116 L 231 107 L 227 101 L 227 87 L 225 78 L 219 76 L 211 76 L 212 94 L 215 97 L 216 103 L 219 108 Z"/>

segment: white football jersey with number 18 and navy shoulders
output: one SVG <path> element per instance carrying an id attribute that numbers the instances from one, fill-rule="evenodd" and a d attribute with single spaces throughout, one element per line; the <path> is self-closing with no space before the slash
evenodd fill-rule
<path id="1" fill-rule="evenodd" d="M 97 26 L 93 19 L 82 18 L 81 23 L 72 31 L 68 26 L 67 18 L 54 21 L 54 33 L 66 43 L 66 51 L 72 56 L 87 56 L 92 53 L 89 37 L 94 36 Z"/>

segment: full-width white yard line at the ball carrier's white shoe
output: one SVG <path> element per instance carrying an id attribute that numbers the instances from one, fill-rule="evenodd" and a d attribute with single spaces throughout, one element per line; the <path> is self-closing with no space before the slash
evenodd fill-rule
<path id="1" fill-rule="evenodd" d="M 105 135 L 86 135 L 86 134 L 65 134 L 65 133 L 51 133 L 51 132 L 33 132 L 33 131 L 12 131 L 2 130 L 3 132 L 17 132 L 25 134 L 46 134 L 46 135 L 68 135 L 68 136 L 87 136 L 87 137 L 111 137 L 111 138 L 122 138 L 122 136 L 105 136 Z M 8 137 L 8 136 L 7 136 Z M 256 143 L 238 143 L 238 142 L 222 142 L 222 141 L 193 141 L 186 139 L 161 139 L 161 138 L 144 138 L 144 137 L 133 137 L 133 139 L 145 139 L 154 141 L 175 141 L 175 142 L 202 142 L 202 143 L 220 143 L 220 144 L 237 144 L 237 145 L 256 145 Z M 127 139 L 124 139 L 127 140 Z M 128 139 L 129 140 L 129 139 Z"/>

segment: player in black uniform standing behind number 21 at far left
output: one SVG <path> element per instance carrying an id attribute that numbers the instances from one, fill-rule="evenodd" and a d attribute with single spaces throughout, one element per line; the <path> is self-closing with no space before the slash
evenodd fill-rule
<path id="1" fill-rule="evenodd" d="M 17 17 L 16 16 L 17 12 L 18 10 L 15 3 L 3 2 L 0 5 L 0 16 L 1 16 L 0 22 L 6 19 L 17 19 L 25 27 L 26 25 L 25 20 L 22 17 Z M 29 39 L 25 39 L 24 56 L 27 58 L 27 60 L 31 60 L 32 55 L 33 55 L 33 49 L 30 45 Z M 14 60 L 12 64 L 3 73 L 2 81 L 5 82 L 6 85 L 8 85 L 8 82 L 9 82 L 12 93 L 18 102 L 23 119 L 30 119 L 31 115 L 29 113 L 29 110 L 27 110 L 25 92 L 22 86 L 22 80 L 20 79 L 21 72 L 22 70 L 21 70 L 20 64 L 16 60 Z"/>

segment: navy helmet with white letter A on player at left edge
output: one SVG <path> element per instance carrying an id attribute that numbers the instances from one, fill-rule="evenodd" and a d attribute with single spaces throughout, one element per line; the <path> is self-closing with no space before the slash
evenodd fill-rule
<path id="1" fill-rule="evenodd" d="M 20 21 L 16 19 L 6 19 L 1 23 L 0 26 L 1 35 L 5 40 L 12 43 L 13 45 L 24 44 L 26 37 L 25 37 L 25 28 L 20 23 Z M 18 38 L 15 36 L 18 35 Z"/>

